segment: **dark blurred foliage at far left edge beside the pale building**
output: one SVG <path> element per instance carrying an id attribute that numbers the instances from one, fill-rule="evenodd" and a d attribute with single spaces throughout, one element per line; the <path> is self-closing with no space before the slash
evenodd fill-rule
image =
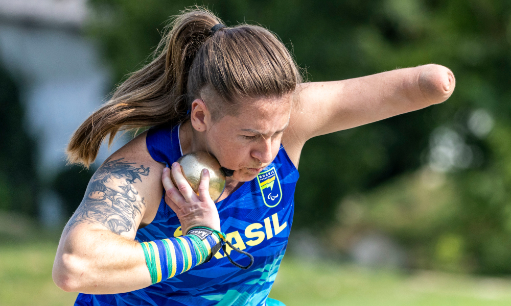
<path id="1" fill-rule="evenodd" d="M 0 210 L 37 212 L 36 147 L 24 129 L 25 110 L 16 83 L 0 65 Z"/>

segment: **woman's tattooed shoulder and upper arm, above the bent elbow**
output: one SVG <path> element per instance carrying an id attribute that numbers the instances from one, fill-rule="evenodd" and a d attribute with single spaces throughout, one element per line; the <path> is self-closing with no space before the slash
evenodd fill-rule
<path id="1" fill-rule="evenodd" d="M 141 224 L 152 221 L 163 193 L 164 165 L 150 157 L 145 138 L 146 133 L 135 137 L 92 175 L 65 233 L 106 229 L 133 238 Z"/>

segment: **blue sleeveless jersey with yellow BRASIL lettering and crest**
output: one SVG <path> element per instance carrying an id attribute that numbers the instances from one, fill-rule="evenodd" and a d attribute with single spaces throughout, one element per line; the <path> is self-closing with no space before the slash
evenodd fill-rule
<path id="1" fill-rule="evenodd" d="M 153 127 L 146 143 L 155 161 L 170 165 L 182 155 L 179 125 Z M 121 294 L 79 294 L 75 305 L 265 305 L 286 250 L 297 180 L 298 170 L 281 146 L 255 179 L 216 203 L 222 232 L 254 257 L 248 270 L 232 265 L 220 250 L 211 261 L 167 281 Z M 138 230 L 136 239 L 146 242 L 180 235 L 179 219 L 162 197 L 153 222 Z M 242 265 L 249 263 L 236 251 L 230 256 Z"/>

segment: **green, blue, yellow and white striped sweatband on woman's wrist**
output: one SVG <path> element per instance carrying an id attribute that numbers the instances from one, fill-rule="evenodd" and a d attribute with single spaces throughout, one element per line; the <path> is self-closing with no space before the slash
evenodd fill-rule
<path id="1" fill-rule="evenodd" d="M 223 240 L 224 234 L 201 226 L 182 237 L 142 242 L 151 283 L 165 281 L 211 260 Z"/>

